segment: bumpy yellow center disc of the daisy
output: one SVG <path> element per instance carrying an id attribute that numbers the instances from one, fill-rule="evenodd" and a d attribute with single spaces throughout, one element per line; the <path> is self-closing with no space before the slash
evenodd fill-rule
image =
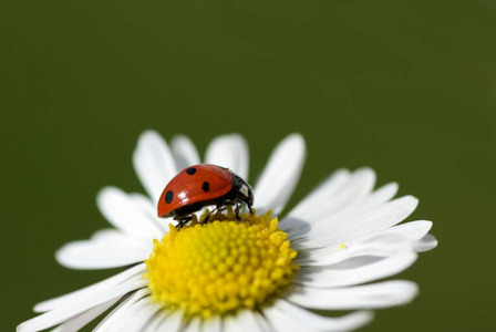
<path id="1" fill-rule="evenodd" d="M 297 251 L 278 219 L 270 212 L 241 219 L 228 209 L 204 225 L 194 218 L 180 231 L 170 226 L 154 240 L 145 261 L 152 300 L 208 318 L 261 307 L 288 286 Z"/>

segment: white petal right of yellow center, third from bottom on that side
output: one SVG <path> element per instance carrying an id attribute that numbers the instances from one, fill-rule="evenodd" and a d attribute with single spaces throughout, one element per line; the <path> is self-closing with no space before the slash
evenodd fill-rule
<path id="1" fill-rule="evenodd" d="M 365 283 L 400 273 L 412 266 L 416 257 L 413 251 L 401 251 L 380 260 L 365 257 L 358 262 L 358 267 L 353 268 L 340 266 L 302 268 L 293 282 L 321 288 Z"/>

